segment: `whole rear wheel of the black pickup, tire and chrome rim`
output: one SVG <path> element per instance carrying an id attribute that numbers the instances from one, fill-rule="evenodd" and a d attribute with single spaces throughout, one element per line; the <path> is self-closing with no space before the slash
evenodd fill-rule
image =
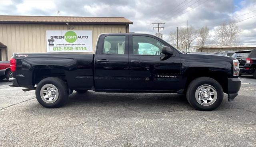
<path id="1" fill-rule="evenodd" d="M 44 78 L 36 86 L 36 99 L 46 108 L 58 108 L 68 100 L 68 86 L 60 78 Z"/>

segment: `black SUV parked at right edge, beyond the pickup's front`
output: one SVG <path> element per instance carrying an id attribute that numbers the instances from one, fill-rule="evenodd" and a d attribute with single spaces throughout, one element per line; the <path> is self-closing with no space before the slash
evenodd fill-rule
<path id="1" fill-rule="evenodd" d="M 256 78 L 256 49 L 236 51 L 232 57 L 239 61 L 240 75 L 252 74 Z"/>

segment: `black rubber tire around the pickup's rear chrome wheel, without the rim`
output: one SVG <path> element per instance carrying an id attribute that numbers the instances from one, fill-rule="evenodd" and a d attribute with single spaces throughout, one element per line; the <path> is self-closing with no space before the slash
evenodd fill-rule
<path id="1" fill-rule="evenodd" d="M 47 103 L 43 100 L 43 98 L 41 98 L 40 90 L 46 84 L 52 84 L 58 90 L 58 97 L 56 98 L 56 101 L 53 103 Z M 46 108 L 58 108 L 60 106 L 63 106 L 68 100 L 68 86 L 60 78 L 56 78 L 56 77 L 44 78 L 36 86 L 36 99 L 42 106 Z"/>

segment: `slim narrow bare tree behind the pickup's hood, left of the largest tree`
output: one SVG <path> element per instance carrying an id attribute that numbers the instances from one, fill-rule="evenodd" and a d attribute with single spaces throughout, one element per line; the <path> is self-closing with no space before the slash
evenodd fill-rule
<path id="1" fill-rule="evenodd" d="M 201 29 L 198 30 L 198 45 L 201 48 L 201 52 L 203 51 L 205 43 L 208 41 L 210 38 L 210 32 L 209 28 L 207 26 L 203 26 Z"/>

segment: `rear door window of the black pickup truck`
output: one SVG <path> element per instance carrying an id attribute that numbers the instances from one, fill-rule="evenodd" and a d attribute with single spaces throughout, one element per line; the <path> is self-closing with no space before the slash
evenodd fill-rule
<path id="1" fill-rule="evenodd" d="M 125 36 L 106 36 L 102 53 L 124 55 Z"/>

